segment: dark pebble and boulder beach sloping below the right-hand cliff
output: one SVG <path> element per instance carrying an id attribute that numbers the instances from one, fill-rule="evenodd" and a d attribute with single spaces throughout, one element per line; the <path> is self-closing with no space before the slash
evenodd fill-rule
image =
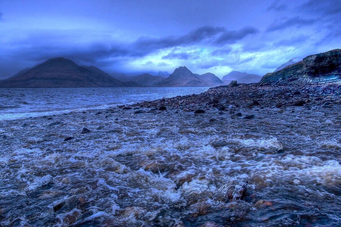
<path id="1" fill-rule="evenodd" d="M 341 104 L 341 81 L 310 82 L 308 79 L 219 86 L 201 94 L 176 96 L 168 99 L 144 101 L 135 108 L 166 110 L 179 108 L 195 111 L 197 108 L 277 107 L 303 106 L 303 108 L 332 108 Z M 122 106 L 123 107 L 123 106 Z M 123 107 L 124 108 L 124 107 Z M 125 107 L 127 108 L 127 107 Z"/>

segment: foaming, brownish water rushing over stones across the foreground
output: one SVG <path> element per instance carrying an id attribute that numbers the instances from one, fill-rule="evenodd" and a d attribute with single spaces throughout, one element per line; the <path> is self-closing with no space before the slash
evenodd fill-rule
<path id="1" fill-rule="evenodd" d="M 340 110 L 1 121 L 0 225 L 340 226 Z"/>

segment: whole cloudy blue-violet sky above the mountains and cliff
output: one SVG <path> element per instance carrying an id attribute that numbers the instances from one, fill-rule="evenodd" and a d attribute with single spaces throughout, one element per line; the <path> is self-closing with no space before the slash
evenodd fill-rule
<path id="1" fill-rule="evenodd" d="M 112 75 L 264 75 L 336 48 L 340 0 L 0 0 L 0 79 L 56 57 Z"/>

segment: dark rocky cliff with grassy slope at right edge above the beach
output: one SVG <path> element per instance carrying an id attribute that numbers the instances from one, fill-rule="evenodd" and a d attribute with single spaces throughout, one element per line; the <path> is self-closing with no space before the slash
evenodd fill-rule
<path id="1" fill-rule="evenodd" d="M 309 55 L 303 58 L 303 61 L 265 74 L 261 82 L 298 78 L 308 78 L 311 81 L 331 81 L 341 78 L 341 50 Z"/>

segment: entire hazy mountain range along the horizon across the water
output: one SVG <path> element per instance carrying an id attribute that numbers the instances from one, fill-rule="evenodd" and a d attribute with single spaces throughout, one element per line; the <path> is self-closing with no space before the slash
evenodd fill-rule
<path id="1" fill-rule="evenodd" d="M 0 87 L 215 87 L 229 84 L 232 80 L 237 80 L 239 84 L 256 83 L 261 78 L 255 74 L 233 71 L 221 80 L 213 73 L 192 73 L 186 66 L 178 67 L 172 74 L 159 71 L 156 76 L 149 73 L 109 75 L 95 66 L 80 66 L 69 59 L 54 58 L 0 80 Z"/>

